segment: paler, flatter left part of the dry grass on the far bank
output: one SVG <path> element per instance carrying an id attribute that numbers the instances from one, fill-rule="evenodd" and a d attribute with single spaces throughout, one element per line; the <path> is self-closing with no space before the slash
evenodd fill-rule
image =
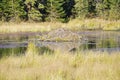
<path id="1" fill-rule="evenodd" d="M 62 26 L 62 23 L 2 23 L 0 25 L 1 33 L 14 32 L 44 32 Z"/>

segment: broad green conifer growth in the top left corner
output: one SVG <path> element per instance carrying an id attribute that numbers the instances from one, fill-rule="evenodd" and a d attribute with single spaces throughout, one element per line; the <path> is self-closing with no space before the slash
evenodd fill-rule
<path id="1" fill-rule="evenodd" d="M 1 0 L 0 2 L 0 19 L 2 21 L 16 21 L 25 15 L 24 5 L 21 0 Z"/>

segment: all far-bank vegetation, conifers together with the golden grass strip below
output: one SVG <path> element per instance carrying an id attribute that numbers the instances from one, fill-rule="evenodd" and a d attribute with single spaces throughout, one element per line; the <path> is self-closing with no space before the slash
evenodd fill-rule
<path id="1" fill-rule="evenodd" d="M 120 30 L 120 0 L 0 0 L 1 33 L 58 27 Z"/>

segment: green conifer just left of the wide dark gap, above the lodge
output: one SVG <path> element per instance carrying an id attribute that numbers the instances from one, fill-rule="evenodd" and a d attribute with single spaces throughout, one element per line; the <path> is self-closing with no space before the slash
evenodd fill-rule
<path id="1" fill-rule="evenodd" d="M 48 21 L 62 21 L 65 20 L 65 11 L 63 9 L 64 0 L 48 0 L 47 13 Z"/>

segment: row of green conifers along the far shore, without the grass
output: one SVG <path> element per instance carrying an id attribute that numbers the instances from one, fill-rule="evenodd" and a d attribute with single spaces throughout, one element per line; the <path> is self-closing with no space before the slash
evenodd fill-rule
<path id="1" fill-rule="evenodd" d="M 0 0 L 0 21 L 120 19 L 120 0 Z"/>

